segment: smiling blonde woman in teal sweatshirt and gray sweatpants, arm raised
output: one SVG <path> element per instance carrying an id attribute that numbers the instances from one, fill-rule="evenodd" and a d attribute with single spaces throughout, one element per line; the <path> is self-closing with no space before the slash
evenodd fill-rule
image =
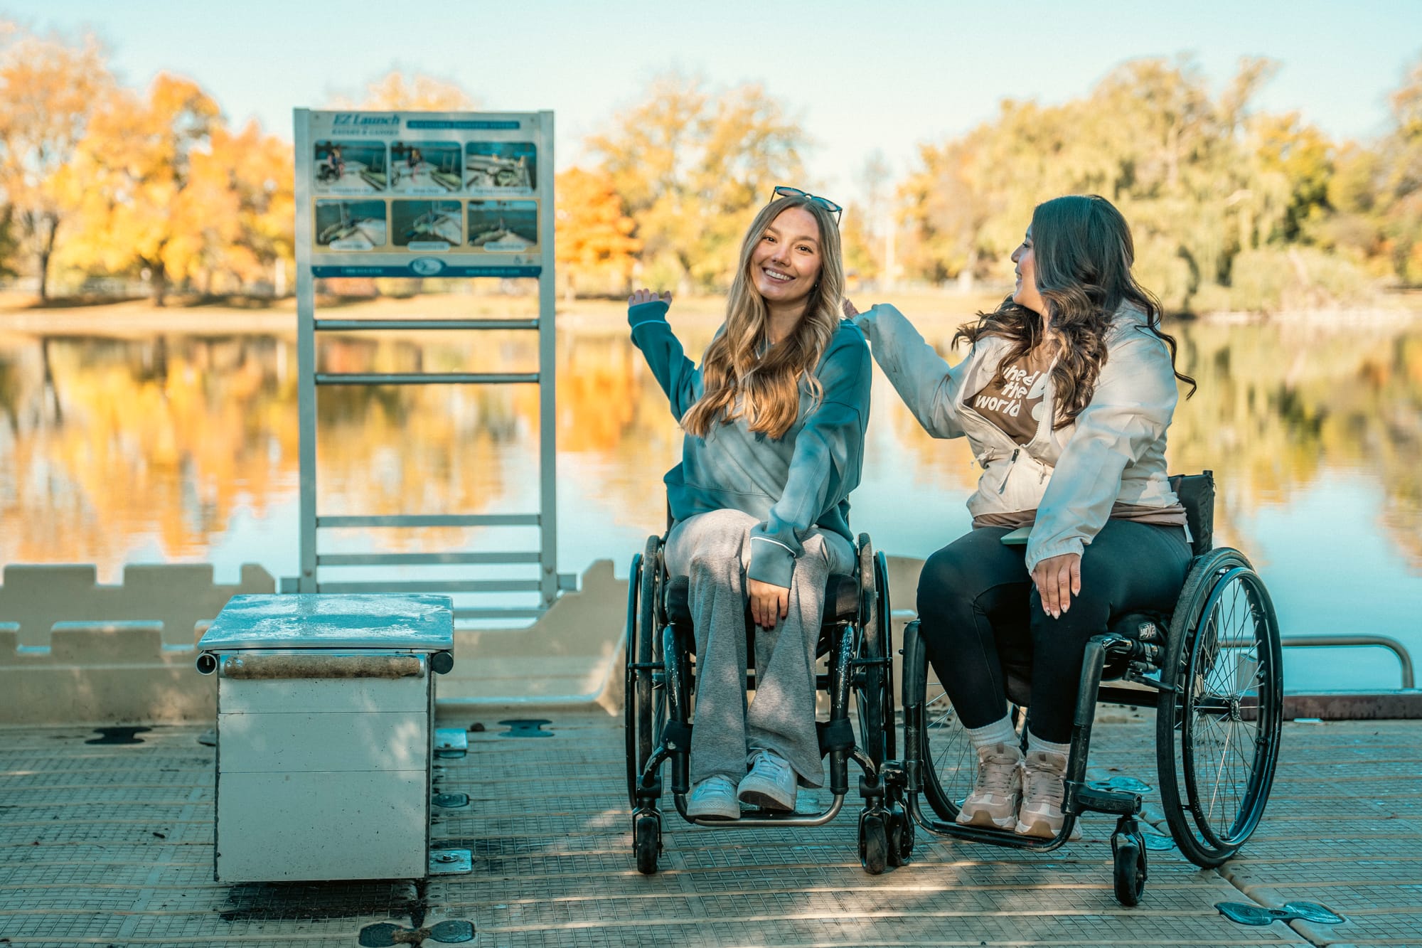
<path id="1" fill-rule="evenodd" d="M 629 299 L 633 343 L 685 430 L 667 473 L 671 575 L 691 581 L 697 712 L 687 814 L 793 810 L 822 783 L 815 642 L 825 581 L 850 572 L 848 512 L 869 420 L 869 347 L 840 319 L 839 206 L 776 188 L 741 245 L 727 319 L 693 364 L 670 293 Z M 745 616 L 755 699 L 745 700 Z"/>

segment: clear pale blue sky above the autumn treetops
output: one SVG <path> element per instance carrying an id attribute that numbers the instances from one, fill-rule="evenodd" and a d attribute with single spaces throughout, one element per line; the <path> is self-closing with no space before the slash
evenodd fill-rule
<path id="1" fill-rule="evenodd" d="M 429 73 L 491 110 L 555 110 L 560 167 L 658 73 L 761 81 L 815 138 L 812 184 L 850 196 L 875 149 L 903 174 L 917 142 L 991 118 L 1000 100 L 1075 98 L 1136 57 L 1193 54 L 1216 88 L 1240 57 L 1273 57 L 1261 107 L 1371 138 L 1422 56 L 1422 0 L 0 0 L 0 16 L 91 28 L 122 81 L 189 75 L 233 122 L 284 138 L 294 107 L 357 97 L 392 67 Z"/>

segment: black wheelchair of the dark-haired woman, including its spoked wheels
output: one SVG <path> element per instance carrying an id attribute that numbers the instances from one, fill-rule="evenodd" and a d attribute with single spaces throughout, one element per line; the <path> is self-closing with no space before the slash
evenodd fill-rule
<path id="1" fill-rule="evenodd" d="M 1202 868 L 1220 865 L 1254 833 L 1274 780 L 1284 712 L 1278 622 L 1244 554 L 1212 548 L 1213 473 L 1175 475 L 1170 483 L 1193 537 L 1190 569 L 1170 615 L 1122 615 L 1088 642 L 1072 719 L 1065 820 L 1057 837 L 1038 840 L 954 823 L 977 777 L 977 754 L 941 685 L 931 679 L 917 621 L 909 623 L 904 754 L 882 767 L 890 861 L 902 864 L 913 850 L 913 826 L 900 810 L 937 836 L 1042 851 L 1066 843 L 1082 813 L 1109 813 L 1116 816 L 1111 837 L 1115 894 L 1121 904 L 1136 905 L 1146 883 L 1139 818 L 1142 791 L 1149 787 L 1129 779 L 1086 780 L 1096 702 L 1156 709 L 1162 809 L 1186 858 Z M 1012 666 L 1003 658 L 1007 699 L 1022 709 L 1031 693 L 1030 665 Z M 1102 686 L 1102 680 L 1129 686 Z M 1025 733 L 1024 725 L 1024 742 Z"/>

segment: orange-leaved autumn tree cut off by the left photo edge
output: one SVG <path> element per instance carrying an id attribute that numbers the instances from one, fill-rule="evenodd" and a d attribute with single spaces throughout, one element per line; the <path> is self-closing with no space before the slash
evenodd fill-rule
<path id="1" fill-rule="evenodd" d="M 0 50 L 0 189 L 14 241 L 34 260 L 40 299 L 50 295 L 50 259 L 82 184 L 73 161 L 112 77 L 92 37 L 67 44 L 14 24 Z"/>

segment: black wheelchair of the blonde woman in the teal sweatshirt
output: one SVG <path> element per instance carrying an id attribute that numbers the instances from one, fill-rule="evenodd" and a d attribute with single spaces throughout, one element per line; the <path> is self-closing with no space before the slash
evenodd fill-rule
<path id="1" fill-rule="evenodd" d="M 739 820 L 701 820 L 687 816 L 693 699 L 695 695 L 695 636 L 685 576 L 668 576 L 663 562 L 664 537 L 650 537 L 631 562 L 627 589 L 626 736 L 627 794 L 633 810 L 633 853 L 637 870 L 657 871 L 661 853 L 661 764 L 671 763 L 671 799 L 683 820 L 732 830 L 785 826 L 823 826 L 843 809 L 849 794 L 849 762 L 862 773 L 859 791 L 859 858 L 869 873 L 889 861 L 883 763 L 896 754 L 894 689 L 889 625 L 887 564 L 869 537 L 859 535 L 853 575 L 830 575 L 815 653 L 826 670 L 816 689 L 829 693 L 829 720 L 816 722 L 820 756 L 829 757 L 832 801 L 818 813 L 751 810 Z M 748 639 L 755 625 L 747 618 Z M 755 648 L 748 642 L 747 690 L 755 689 Z M 850 697 L 859 719 L 859 740 L 849 717 Z"/>

